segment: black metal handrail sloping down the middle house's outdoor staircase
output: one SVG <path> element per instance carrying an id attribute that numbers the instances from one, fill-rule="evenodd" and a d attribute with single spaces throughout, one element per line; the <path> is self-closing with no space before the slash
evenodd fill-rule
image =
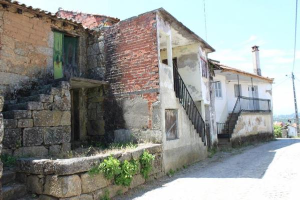
<path id="1" fill-rule="evenodd" d="M 205 138 L 205 122 L 191 96 L 187 87 L 185 86 L 176 66 L 173 66 L 173 76 L 174 76 L 174 91 L 176 97 L 179 98 L 179 102 L 184 107 L 189 119 L 195 126 L 196 131 L 202 138 L 202 141 L 206 145 Z"/>

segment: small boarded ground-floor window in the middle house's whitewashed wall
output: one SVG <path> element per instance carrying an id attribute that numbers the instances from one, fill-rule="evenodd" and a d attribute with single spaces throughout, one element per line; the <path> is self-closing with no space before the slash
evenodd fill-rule
<path id="1" fill-rule="evenodd" d="M 178 138 L 178 122 L 176 109 L 165 110 L 165 123 L 167 140 Z"/>

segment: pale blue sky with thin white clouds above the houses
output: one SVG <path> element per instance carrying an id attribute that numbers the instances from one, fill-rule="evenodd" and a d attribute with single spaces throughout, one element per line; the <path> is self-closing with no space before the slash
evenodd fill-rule
<path id="1" fill-rule="evenodd" d="M 179 21 L 205 39 L 216 52 L 209 57 L 252 72 L 251 46 L 260 46 L 262 75 L 275 78 L 274 114 L 294 111 L 290 74 L 293 58 L 295 0 L 20 0 L 56 12 L 59 7 L 118 17 L 121 20 L 164 7 Z M 300 93 L 300 3 L 294 73 Z M 297 95 L 300 107 L 300 95 Z"/>

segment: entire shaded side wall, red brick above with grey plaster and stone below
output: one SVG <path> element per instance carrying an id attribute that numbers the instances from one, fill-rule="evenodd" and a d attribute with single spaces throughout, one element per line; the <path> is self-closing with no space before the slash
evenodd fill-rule
<path id="1" fill-rule="evenodd" d="M 91 34 L 87 53 L 88 77 L 110 83 L 103 92 L 106 139 L 117 137 L 120 141 L 131 134 L 149 134 L 155 126 L 152 110 L 159 95 L 155 13 L 132 17 Z"/>

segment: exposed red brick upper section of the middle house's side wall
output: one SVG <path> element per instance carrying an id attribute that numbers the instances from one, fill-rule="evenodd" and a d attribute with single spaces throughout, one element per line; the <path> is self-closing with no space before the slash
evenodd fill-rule
<path id="1" fill-rule="evenodd" d="M 159 88 L 156 14 L 120 21 L 104 31 L 104 42 L 109 94 L 117 98 L 139 94 L 148 100 L 150 110 Z M 151 123 L 149 116 L 149 128 Z"/>

